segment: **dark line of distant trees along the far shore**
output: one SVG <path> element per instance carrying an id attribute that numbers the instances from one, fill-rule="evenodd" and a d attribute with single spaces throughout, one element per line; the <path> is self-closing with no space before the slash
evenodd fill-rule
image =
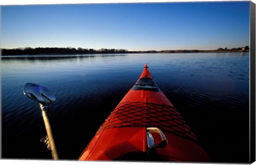
<path id="1" fill-rule="evenodd" d="M 1 49 L 2 55 L 22 55 L 22 54 L 115 54 L 115 53 L 207 53 L 207 52 L 249 52 L 249 46 L 237 48 L 218 48 L 217 50 L 166 50 L 166 51 L 127 51 L 124 49 L 107 49 L 101 48 L 74 48 L 74 47 L 25 47 L 13 49 Z"/>

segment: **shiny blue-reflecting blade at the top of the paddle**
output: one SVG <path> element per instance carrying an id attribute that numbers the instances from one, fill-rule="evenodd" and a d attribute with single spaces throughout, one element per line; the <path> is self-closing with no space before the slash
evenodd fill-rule
<path id="1" fill-rule="evenodd" d="M 49 104 L 56 100 L 49 88 L 33 83 L 25 84 L 23 93 L 39 103 Z"/>

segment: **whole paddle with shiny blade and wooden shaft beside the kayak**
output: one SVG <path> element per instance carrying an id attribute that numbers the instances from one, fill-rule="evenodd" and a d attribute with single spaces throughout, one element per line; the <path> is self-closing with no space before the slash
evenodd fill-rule
<path id="1" fill-rule="evenodd" d="M 58 153 L 55 147 L 52 129 L 50 126 L 50 121 L 47 117 L 48 105 L 56 100 L 55 96 L 51 93 L 51 91 L 44 86 L 39 86 L 33 83 L 27 83 L 24 86 L 23 92 L 29 98 L 39 102 L 40 108 L 42 110 L 42 116 L 44 119 L 44 125 L 46 129 L 47 136 L 49 138 L 50 149 L 52 152 L 52 158 L 54 160 L 58 160 Z"/>

